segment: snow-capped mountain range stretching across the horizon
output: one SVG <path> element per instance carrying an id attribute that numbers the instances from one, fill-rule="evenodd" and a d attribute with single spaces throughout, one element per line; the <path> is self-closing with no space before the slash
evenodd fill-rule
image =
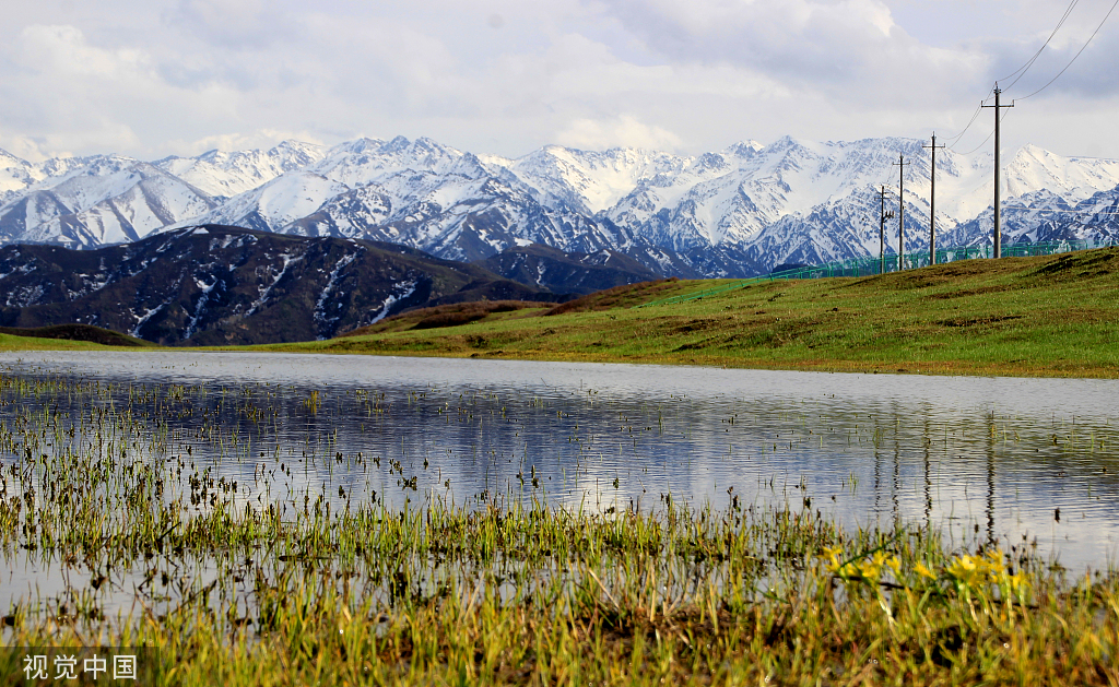
<path id="1" fill-rule="evenodd" d="M 788 263 L 878 252 L 880 189 L 897 206 L 904 168 L 906 248 L 929 243 L 930 158 L 900 138 L 769 145 L 697 157 L 547 145 L 523 158 L 430 139 L 288 141 L 145 162 L 121 156 L 30 163 L 0 151 L 0 243 L 96 247 L 222 224 L 405 244 L 459 261 L 542 244 L 614 251 L 655 272 L 742 276 Z M 1027 145 L 1004 173 L 1004 243 L 1115 235 L 1119 160 Z M 993 156 L 937 157 L 942 246 L 990 241 Z M 896 251 L 896 219 L 887 251 Z"/>

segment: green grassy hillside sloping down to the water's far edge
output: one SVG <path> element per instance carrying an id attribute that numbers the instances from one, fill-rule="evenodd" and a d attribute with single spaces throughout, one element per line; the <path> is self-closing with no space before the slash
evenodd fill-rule
<path id="1" fill-rule="evenodd" d="M 714 282 L 715 285 L 730 282 Z M 923 374 L 1119 376 L 1119 248 L 773 281 L 679 304 L 660 282 L 558 308 L 406 314 L 269 350 Z M 422 321 L 427 320 L 422 326 Z M 466 323 L 457 323 L 466 322 Z"/>

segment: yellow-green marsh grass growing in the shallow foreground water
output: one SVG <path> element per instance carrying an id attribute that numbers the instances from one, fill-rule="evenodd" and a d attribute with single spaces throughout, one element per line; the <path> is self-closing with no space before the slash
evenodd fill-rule
<path id="1" fill-rule="evenodd" d="M 1119 577 L 1070 578 L 1026 543 L 736 498 L 331 509 L 322 487 L 281 508 L 179 451 L 167 416 L 207 394 L 266 426 L 251 387 L 0 376 L 0 555 L 63 581 L 3 610 L 8 646 L 156 647 L 172 685 L 1119 680 Z M 274 479 L 244 435 L 191 440 Z"/>

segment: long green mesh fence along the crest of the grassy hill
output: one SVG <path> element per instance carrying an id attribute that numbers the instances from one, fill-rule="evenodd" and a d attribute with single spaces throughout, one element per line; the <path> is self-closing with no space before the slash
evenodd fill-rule
<path id="1" fill-rule="evenodd" d="M 1056 241 L 1049 243 L 1017 243 L 1008 246 L 1003 246 L 1003 257 L 1027 257 L 1032 255 L 1056 255 L 1057 253 L 1071 253 L 1072 251 L 1089 251 L 1091 248 L 1103 248 L 1107 246 L 1119 245 L 1113 238 L 1097 238 L 1097 239 L 1084 239 L 1084 241 Z M 979 245 L 979 246 L 952 246 L 949 248 L 940 248 L 937 251 L 937 264 L 956 262 L 959 260 L 975 260 L 977 257 L 991 257 L 995 253 L 994 246 L 990 245 Z M 915 270 L 918 267 L 929 266 L 929 252 L 913 252 L 905 253 L 901 256 L 901 269 L 902 270 Z M 693 291 L 692 293 L 685 293 L 681 295 L 674 295 L 671 298 L 660 299 L 657 301 L 650 301 L 648 303 L 642 303 L 636 305 L 636 308 L 648 308 L 649 305 L 671 305 L 674 303 L 686 303 L 688 301 L 697 301 L 720 293 L 725 293 L 727 291 L 734 291 L 735 289 L 742 289 L 744 286 L 750 286 L 752 284 L 758 284 L 762 282 L 771 282 L 782 279 L 820 279 L 825 276 L 873 276 L 875 274 L 882 274 L 883 267 L 885 272 L 897 272 L 899 271 L 899 255 L 886 255 L 884 258 L 880 257 L 856 257 L 854 260 L 845 260 L 841 262 L 831 262 L 822 265 L 808 265 L 806 267 L 798 267 L 794 270 L 782 270 L 781 272 L 772 272 L 762 276 L 751 276 L 741 281 L 732 282 L 730 284 L 723 284 L 722 286 L 714 286 L 711 289 L 703 289 L 702 291 Z"/>

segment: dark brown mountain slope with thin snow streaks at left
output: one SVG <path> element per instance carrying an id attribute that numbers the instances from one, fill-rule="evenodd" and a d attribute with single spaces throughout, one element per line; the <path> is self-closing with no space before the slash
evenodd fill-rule
<path id="1" fill-rule="evenodd" d="M 555 300 L 399 245 L 237 227 L 95 251 L 0 248 L 0 326 L 79 322 L 168 345 L 329 338 L 408 307 L 481 298 Z"/>

